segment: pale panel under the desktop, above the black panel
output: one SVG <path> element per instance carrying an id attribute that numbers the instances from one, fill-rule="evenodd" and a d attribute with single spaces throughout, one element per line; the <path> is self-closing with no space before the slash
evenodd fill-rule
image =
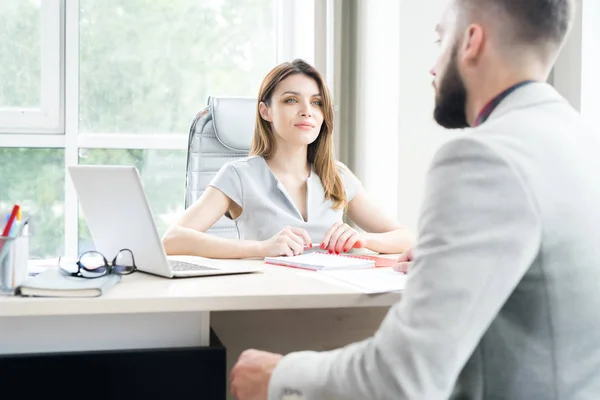
<path id="1" fill-rule="evenodd" d="M 0 354 L 208 346 L 208 312 L 0 317 Z"/>

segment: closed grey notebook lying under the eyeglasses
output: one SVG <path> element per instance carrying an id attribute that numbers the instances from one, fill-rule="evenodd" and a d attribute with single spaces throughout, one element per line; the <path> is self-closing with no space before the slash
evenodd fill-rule
<path id="1" fill-rule="evenodd" d="M 120 280 L 121 275 L 117 274 L 88 279 L 70 276 L 60 268 L 48 268 L 27 278 L 17 289 L 17 294 L 36 297 L 98 297 Z"/>

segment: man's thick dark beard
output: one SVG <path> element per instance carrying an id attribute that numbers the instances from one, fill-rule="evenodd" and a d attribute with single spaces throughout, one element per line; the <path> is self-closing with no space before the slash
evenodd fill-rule
<path id="1" fill-rule="evenodd" d="M 452 50 L 448 68 L 440 82 L 435 98 L 435 121 L 448 129 L 468 128 L 467 122 L 467 89 L 458 71 L 456 62 L 458 46 Z"/>

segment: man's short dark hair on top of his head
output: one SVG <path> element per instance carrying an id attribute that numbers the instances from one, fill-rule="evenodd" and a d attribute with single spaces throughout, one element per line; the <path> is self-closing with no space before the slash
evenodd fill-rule
<path id="1" fill-rule="evenodd" d="M 515 40 L 525 44 L 560 44 L 574 13 L 573 0 L 460 0 L 472 10 L 504 12 Z"/>

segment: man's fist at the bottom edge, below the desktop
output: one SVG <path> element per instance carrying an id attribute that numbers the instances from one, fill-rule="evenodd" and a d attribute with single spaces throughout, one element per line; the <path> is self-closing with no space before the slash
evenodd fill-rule
<path id="1" fill-rule="evenodd" d="M 238 400 L 267 400 L 271 374 L 283 356 L 246 350 L 231 370 L 231 394 Z"/>

